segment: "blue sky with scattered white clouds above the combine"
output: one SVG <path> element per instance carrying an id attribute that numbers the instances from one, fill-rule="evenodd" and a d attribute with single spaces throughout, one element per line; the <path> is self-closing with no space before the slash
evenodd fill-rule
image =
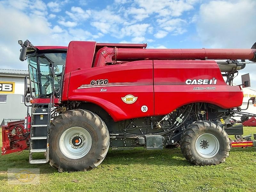
<path id="1" fill-rule="evenodd" d="M 0 0 L 0 68 L 27 70 L 18 40 L 147 43 L 147 48 L 251 48 L 256 0 Z M 256 89 L 256 64 L 247 64 Z M 241 78 L 234 82 L 241 84 Z"/>

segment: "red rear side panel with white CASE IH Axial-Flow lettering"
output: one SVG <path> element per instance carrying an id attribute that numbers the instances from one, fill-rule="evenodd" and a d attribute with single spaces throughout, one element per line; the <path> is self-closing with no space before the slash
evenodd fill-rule
<path id="1" fill-rule="evenodd" d="M 185 84 L 187 79 L 213 79 L 216 84 Z M 195 88 L 199 87 L 201 90 Z M 207 88 L 204 89 L 202 88 Z M 215 87 L 211 90 L 210 87 Z M 227 85 L 215 61 L 154 60 L 155 115 L 165 115 L 193 102 L 206 102 L 222 108 L 241 106 L 239 86 Z"/>

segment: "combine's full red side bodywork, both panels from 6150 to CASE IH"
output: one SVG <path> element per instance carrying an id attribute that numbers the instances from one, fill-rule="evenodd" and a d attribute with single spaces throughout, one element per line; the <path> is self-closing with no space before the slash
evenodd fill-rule
<path id="1" fill-rule="evenodd" d="M 213 78 L 217 80 L 213 85 L 185 84 L 187 79 Z M 90 85 L 92 80 L 100 79 L 108 79 L 108 84 Z M 215 90 L 193 90 L 194 87 L 215 87 Z M 100 92 L 101 88 L 107 91 Z M 123 102 L 121 98 L 128 94 L 138 97 L 136 102 Z M 95 103 L 115 121 L 120 121 L 165 115 L 193 102 L 212 103 L 222 108 L 238 107 L 242 104 L 243 92 L 238 86 L 224 82 L 215 61 L 144 60 L 71 72 L 68 100 Z M 141 111 L 143 105 L 148 107 L 147 112 Z"/>

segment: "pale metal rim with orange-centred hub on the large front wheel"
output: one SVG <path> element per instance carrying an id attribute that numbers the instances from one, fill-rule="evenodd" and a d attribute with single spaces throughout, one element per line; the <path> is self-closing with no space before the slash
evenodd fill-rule
<path id="1" fill-rule="evenodd" d="M 70 159 L 84 157 L 92 148 L 92 136 L 83 127 L 70 127 L 60 136 L 60 151 Z"/>

